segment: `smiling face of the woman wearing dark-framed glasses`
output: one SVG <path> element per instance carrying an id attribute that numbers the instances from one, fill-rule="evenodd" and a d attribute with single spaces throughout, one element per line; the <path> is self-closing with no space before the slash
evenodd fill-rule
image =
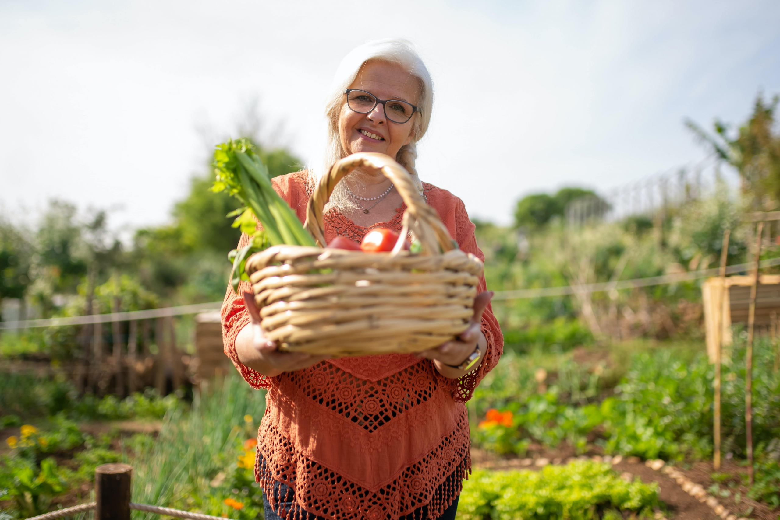
<path id="1" fill-rule="evenodd" d="M 368 61 L 349 88 L 365 90 L 380 100 L 402 100 L 418 105 L 419 79 L 410 76 L 400 65 L 387 61 Z M 399 124 L 388 121 L 381 104 L 368 114 L 360 114 L 349 109 L 346 96 L 344 100 L 339 114 L 339 137 L 347 154 L 379 152 L 395 159 L 401 146 L 412 141 L 412 124 L 419 114 Z"/>

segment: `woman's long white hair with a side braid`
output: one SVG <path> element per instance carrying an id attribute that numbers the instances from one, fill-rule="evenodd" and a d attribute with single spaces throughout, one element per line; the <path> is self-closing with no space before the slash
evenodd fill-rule
<path id="1" fill-rule="evenodd" d="M 325 144 L 324 163 L 320 172 L 309 170 L 308 186 L 310 191 L 314 191 L 319 177 L 328 173 L 332 165 L 348 155 L 342 148 L 341 136 L 339 135 L 339 114 L 342 111 L 346 97 L 344 90 L 348 89 L 355 81 L 360 69 L 367 61 L 388 61 L 401 65 L 414 76 L 420 83 L 420 97 L 417 101 L 420 107 L 420 117 L 413 118 L 412 121 L 412 141 L 399 149 L 395 156 L 397 160 L 410 174 L 413 175 L 415 183 L 422 191 L 422 183 L 417 176 L 417 170 L 414 167 L 417 159 L 417 141 L 425 135 L 428 124 L 431 122 L 431 111 L 434 101 L 434 84 L 431 80 L 431 74 L 428 72 L 420 54 L 417 54 L 413 44 L 408 40 L 398 38 L 388 38 L 385 40 L 374 40 L 367 44 L 355 47 L 344 59 L 342 59 L 339 68 L 336 69 L 333 83 L 331 84 L 331 94 L 328 96 L 325 104 L 325 117 L 328 119 L 328 137 Z M 357 178 L 350 174 L 353 181 Z M 346 183 L 339 182 L 333 190 L 330 202 L 325 207 L 325 211 L 335 209 L 344 212 L 345 210 L 358 209 L 358 206 L 349 197 L 346 190 Z"/>

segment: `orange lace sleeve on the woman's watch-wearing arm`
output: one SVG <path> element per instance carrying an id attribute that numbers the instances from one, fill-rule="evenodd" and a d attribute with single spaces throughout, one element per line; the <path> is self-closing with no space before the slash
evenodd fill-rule
<path id="1" fill-rule="evenodd" d="M 458 242 L 461 250 L 473 255 L 484 261 L 484 255 L 477 246 L 477 238 L 474 236 L 475 226 L 469 219 L 468 213 L 466 213 L 466 207 L 463 206 L 463 202 L 458 199 L 458 206 L 456 207 L 456 241 Z M 487 290 L 484 276 L 480 276 L 480 283 L 477 286 L 477 293 Z M 449 386 L 452 392 L 452 397 L 456 402 L 466 402 L 471 399 L 474 393 L 474 389 L 480 384 L 482 378 L 493 370 L 498 359 L 501 357 L 504 351 L 504 336 L 501 332 L 501 327 L 498 325 L 498 320 L 493 314 L 493 307 L 488 304 L 488 308 L 485 309 L 482 314 L 482 333 L 485 335 L 485 339 L 488 340 L 488 347 L 482 358 L 482 363 L 477 370 L 466 374 L 463 378 L 451 379 L 440 376 L 443 380 L 443 385 Z"/>

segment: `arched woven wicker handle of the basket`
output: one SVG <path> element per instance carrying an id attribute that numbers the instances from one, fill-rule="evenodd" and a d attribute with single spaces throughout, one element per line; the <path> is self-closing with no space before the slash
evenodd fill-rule
<path id="1" fill-rule="evenodd" d="M 322 209 L 328 203 L 335 185 L 339 184 L 339 181 L 346 174 L 360 167 L 381 171 L 395 184 L 395 189 L 398 190 L 401 199 L 406 203 L 406 213 L 403 216 L 404 229 L 412 231 L 414 236 L 420 240 L 423 254 L 435 255 L 438 254 L 439 248 L 441 251 L 449 251 L 454 248 L 449 230 L 439 219 L 436 210 L 425 203 L 406 168 L 384 153 L 375 152 L 353 153 L 344 157 L 336 162 L 328 174 L 317 182 L 317 188 L 314 188 L 314 193 L 311 194 L 307 204 L 306 223 L 303 226 L 309 230 L 321 248 L 325 247 L 325 224 Z M 399 244 L 406 240 L 404 235 L 406 233 L 399 237 Z M 397 244 L 395 249 L 399 249 Z"/>

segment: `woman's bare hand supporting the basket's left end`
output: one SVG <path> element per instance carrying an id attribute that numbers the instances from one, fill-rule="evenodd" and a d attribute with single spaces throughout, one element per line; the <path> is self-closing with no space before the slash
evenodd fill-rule
<path id="1" fill-rule="evenodd" d="M 292 372 L 311 367 L 330 356 L 314 356 L 300 352 L 280 352 L 276 343 L 267 339 L 261 329 L 260 311 L 252 293 L 243 293 L 246 310 L 252 321 L 236 336 L 236 353 L 246 367 L 272 378 L 282 372 Z"/>

